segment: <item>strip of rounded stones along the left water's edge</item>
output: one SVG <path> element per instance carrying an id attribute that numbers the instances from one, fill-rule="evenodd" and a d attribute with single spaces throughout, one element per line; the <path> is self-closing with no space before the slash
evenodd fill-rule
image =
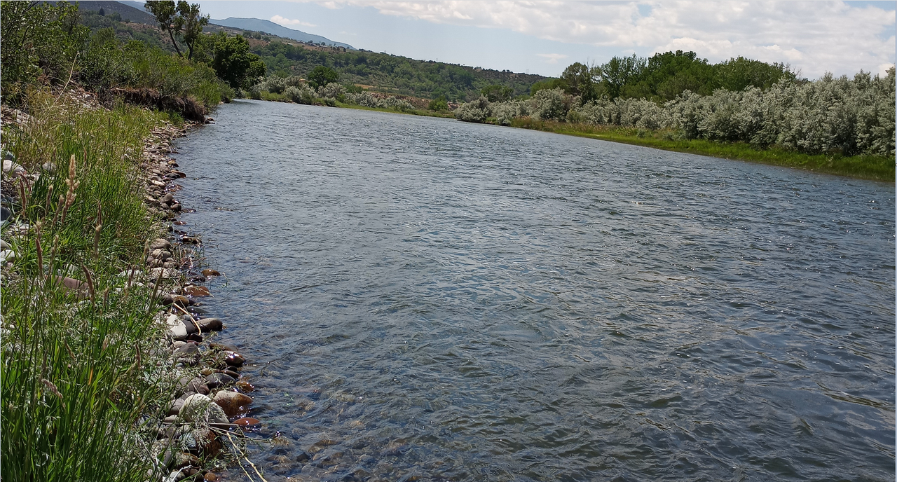
<path id="1" fill-rule="evenodd" d="M 224 326 L 201 307 L 202 298 L 211 296 L 203 283 L 221 273 L 203 268 L 202 238 L 179 228 L 185 224 L 178 219 L 185 209 L 175 194 L 181 189 L 177 181 L 187 175 L 169 154 L 176 153 L 171 142 L 187 130 L 166 126 L 154 131 L 140 165 L 148 209 L 170 230 L 168 238 L 153 240 L 145 250 L 148 279 L 168 288 L 158 295 L 164 306 L 158 319 L 167 328 L 170 359 L 178 376 L 176 398 L 170 400 L 154 444 L 161 464 L 170 469 L 166 481 L 197 474 L 216 480 L 204 468 L 210 459 L 228 455 L 222 452 L 225 448 L 230 449 L 229 455 L 239 452 L 231 430 L 259 423 L 244 417 L 252 403 L 247 393 L 254 390 L 240 380 L 245 358 L 236 349 L 211 341 L 210 335 Z"/>

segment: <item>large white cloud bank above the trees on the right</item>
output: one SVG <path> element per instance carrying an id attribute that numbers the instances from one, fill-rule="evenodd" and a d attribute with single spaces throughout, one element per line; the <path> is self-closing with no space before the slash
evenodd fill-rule
<path id="1" fill-rule="evenodd" d="M 321 2 L 540 39 L 650 55 L 693 50 L 711 62 L 747 56 L 782 62 L 818 77 L 827 71 L 881 71 L 892 65 L 894 11 L 830 2 L 577 2 L 562 0 Z M 891 35 L 889 35 L 891 33 Z"/>

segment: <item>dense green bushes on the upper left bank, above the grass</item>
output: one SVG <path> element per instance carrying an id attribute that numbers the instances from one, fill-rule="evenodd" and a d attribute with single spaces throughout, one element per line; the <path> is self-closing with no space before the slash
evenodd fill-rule
<path id="1" fill-rule="evenodd" d="M 116 92 L 141 90 L 152 105 L 186 107 L 181 116 L 231 99 L 234 91 L 212 66 L 173 56 L 113 29 L 92 31 L 72 4 L 9 2 L 0 9 L 0 88 L 18 106 L 35 85 L 76 83 L 112 105 Z M 198 120 L 198 119 L 197 119 Z"/>

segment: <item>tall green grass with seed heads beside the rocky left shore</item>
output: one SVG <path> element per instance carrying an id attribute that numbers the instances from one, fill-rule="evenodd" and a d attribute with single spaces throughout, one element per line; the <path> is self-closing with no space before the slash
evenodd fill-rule
<path id="1" fill-rule="evenodd" d="M 158 357 L 152 286 L 126 286 L 157 236 L 137 162 L 166 116 L 119 104 L 84 110 L 48 91 L 30 120 L 4 125 L 5 148 L 29 173 L 3 239 L 2 478 L 143 480 L 153 416 L 173 387 Z M 4 263 L 5 264 L 5 263 Z M 147 425 L 144 425 L 147 424 Z"/>

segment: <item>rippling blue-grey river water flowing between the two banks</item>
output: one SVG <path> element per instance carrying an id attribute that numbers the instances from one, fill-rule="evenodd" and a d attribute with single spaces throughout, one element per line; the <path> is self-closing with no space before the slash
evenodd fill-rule
<path id="1" fill-rule="evenodd" d="M 226 274 L 203 307 L 251 361 L 269 482 L 893 480 L 893 185 L 451 119 L 215 117 L 177 146 L 179 197 Z"/>

